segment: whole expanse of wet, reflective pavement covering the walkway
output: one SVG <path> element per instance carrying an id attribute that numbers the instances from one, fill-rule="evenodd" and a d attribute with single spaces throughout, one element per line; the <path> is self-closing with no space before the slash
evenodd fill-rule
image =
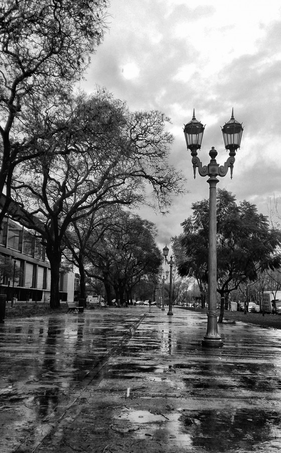
<path id="1" fill-rule="evenodd" d="M 157 307 L 0 325 L 2 453 L 281 451 L 281 331 Z"/>

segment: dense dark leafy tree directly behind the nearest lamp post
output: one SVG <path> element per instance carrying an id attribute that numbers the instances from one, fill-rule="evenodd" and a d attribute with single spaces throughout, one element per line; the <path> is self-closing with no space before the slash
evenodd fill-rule
<path id="1" fill-rule="evenodd" d="M 207 200 L 193 204 L 194 214 L 183 222 L 182 246 L 186 259 L 180 265 L 182 275 L 200 275 L 208 281 L 208 224 Z M 269 229 L 267 217 L 258 214 L 256 206 L 247 202 L 235 203 L 235 197 L 225 189 L 217 195 L 217 291 L 221 296 L 222 322 L 224 299 L 241 282 L 255 281 L 258 272 L 280 266 L 276 249 L 281 233 Z"/>

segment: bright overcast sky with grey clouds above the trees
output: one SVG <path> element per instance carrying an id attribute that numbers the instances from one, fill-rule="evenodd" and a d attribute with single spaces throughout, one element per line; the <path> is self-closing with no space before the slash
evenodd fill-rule
<path id="1" fill-rule="evenodd" d="M 158 109 L 171 118 L 170 162 L 181 169 L 189 193 L 174 199 L 165 217 L 139 212 L 157 225 L 164 246 L 178 235 L 191 205 L 209 197 L 208 178 L 193 178 L 183 123 L 206 124 L 199 153 L 210 162 L 228 154 L 220 126 L 234 116 L 245 127 L 230 174 L 217 187 L 238 201 L 268 206 L 281 195 L 281 4 L 275 0 L 112 0 L 109 30 L 81 84 L 106 87 L 131 110 Z M 281 201 L 280 201 L 281 206 Z M 281 207 L 280 207 L 281 212 Z"/>

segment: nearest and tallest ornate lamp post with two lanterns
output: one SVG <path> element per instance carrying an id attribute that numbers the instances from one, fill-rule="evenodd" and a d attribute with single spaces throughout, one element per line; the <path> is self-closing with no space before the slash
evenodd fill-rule
<path id="1" fill-rule="evenodd" d="M 198 157 L 197 150 L 201 148 L 203 133 L 205 126 L 195 117 L 193 111 L 192 120 L 184 125 L 184 136 L 186 145 L 191 151 L 194 178 L 196 177 L 196 168 L 200 176 L 209 176 L 208 183 L 210 186 L 209 198 L 209 260 L 208 260 L 208 323 L 207 333 L 202 340 L 203 346 L 221 347 L 223 346 L 222 339 L 218 333 L 217 320 L 217 176 L 225 176 L 230 168 L 230 176 L 232 178 L 233 165 L 235 162 L 236 150 L 240 148 L 241 137 L 243 132 L 242 124 L 235 120 L 232 115 L 230 120 L 222 127 L 225 148 L 229 151 L 229 158 L 224 165 L 219 166 L 216 161 L 217 151 L 212 146 L 209 152 L 211 158 L 210 164 L 202 165 Z"/>

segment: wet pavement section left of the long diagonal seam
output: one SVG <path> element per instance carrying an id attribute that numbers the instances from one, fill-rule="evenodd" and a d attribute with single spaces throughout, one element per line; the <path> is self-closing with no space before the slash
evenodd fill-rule
<path id="1" fill-rule="evenodd" d="M 38 421 L 48 421 L 53 411 L 59 413 L 75 386 L 79 391 L 89 370 L 141 318 L 134 313 L 125 320 L 116 313 L 99 312 L 98 317 L 93 311 L 84 313 L 9 319 L 0 326 L 2 453 L 34 434 Z"/>

